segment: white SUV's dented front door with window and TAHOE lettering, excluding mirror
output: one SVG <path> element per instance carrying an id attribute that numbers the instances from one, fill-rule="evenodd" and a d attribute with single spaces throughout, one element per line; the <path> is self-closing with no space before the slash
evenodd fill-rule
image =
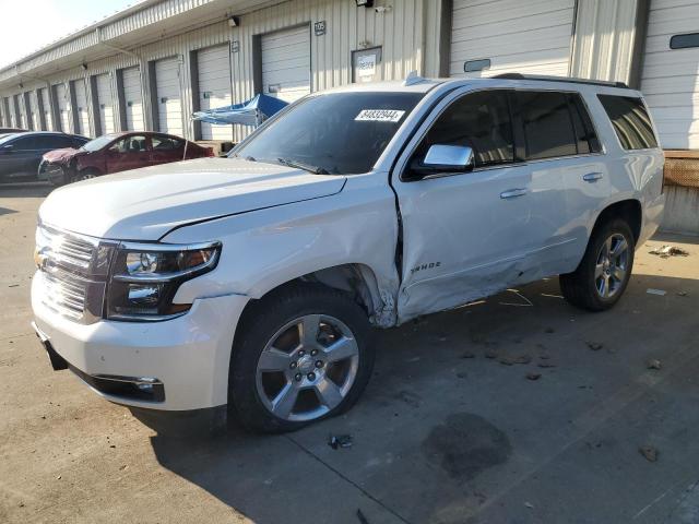
<path id="1" fill-rule="evenodd" d="M 399 158 L 392 183 L 403 225 L 401 321 L 506 289 L 529 271 L 532 176 L 516 162 L 514 143 L 508 91 L 459 91 Z M 412 178 L 411 165 L 434 144 L 472 147 L 474 169 Z"/>

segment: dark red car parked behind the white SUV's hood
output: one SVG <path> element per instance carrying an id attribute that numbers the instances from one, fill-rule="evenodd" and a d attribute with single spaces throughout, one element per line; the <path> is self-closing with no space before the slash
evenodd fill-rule
<path id="1" fill-rule="evenodd" d="M 61 186 L 127 169 L 204 156 L 214 156 L 213 150 L 171 134 L 147 131 L 105 134 L 79 150 L 46 153 L 39 165 L 39 179 Z"/>

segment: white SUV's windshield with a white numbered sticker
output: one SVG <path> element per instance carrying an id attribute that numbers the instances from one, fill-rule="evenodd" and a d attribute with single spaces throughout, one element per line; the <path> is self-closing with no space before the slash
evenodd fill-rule
<path id="1" fill-rule="evenodd" d="M 318 174 L 367 172 L 423 93 L 311 96 L 245 141 L 233 156 Z"/>

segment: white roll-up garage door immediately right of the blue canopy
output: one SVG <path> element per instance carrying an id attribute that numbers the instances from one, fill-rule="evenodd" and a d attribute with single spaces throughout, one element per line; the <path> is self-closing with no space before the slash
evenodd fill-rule
<path id="1" fill-rule="evenodd" d="M 292 103 L 310 93 L 310 27 L 262 35 L 262 91 Z"/>

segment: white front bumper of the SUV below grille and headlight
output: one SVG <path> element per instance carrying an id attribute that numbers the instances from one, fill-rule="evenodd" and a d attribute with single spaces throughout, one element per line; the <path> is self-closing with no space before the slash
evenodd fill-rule
<path id="1" fill-rule="evenodd" d="M 36 327 L 99 395 L 119 404 L 166 410 L 201 409 L 228 402 L 233 337 L 248 297 L 198 299 L 187 314 L 164 322 L 102 320 L 85 325 L 44 306 L 40 281 L 37 274 L 32 283 Z M 156 378 L 163 384 L 164 401 L 121 395 L 119 390 L 93 382 L 105 377 Z"/>

